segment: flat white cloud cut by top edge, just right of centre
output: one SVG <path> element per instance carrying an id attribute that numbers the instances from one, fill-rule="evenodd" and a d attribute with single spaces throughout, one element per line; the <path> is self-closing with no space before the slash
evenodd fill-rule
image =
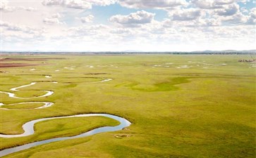
<path id="1" fill-rule="evenodd" d="M 185 0 L 172 1 L 154 1 L 154 0 L 119 0 L 121 6 L 127 8 L 172 8 L 176 6 L 186 6 L 188 3 Z"/>

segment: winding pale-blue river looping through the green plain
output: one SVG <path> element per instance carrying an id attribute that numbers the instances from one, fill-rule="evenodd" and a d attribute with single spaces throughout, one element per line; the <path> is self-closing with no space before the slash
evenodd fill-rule
<path id="1" fill-rule="evenodd" d="M 102 81 L 99 82 L 104 82 L 104 81 L 111 81 L 112 79 L 104 79 Z M 18 88 L 23 88 L 26 86 L 32 86 L 35 85 L 37 82 L 32 82 L 30 84 L 27 85 L 23 85 L 23 86 L 18 86 L 16 88 L 11 88 L 11 91 L 19 91 Z M 57 83 L 55 81 L 55 83 Z M 51 96 L 54 92 L 53 91 L 46 91 L 46 94 L 42 95 L 42 96 L 36 96 L 36 97 L 31 97 L 31 98 L 39 98 L 39 97 L 46 97 L 46 96 Z M 10 93 L 10 92 L 6 92 L 6 91 L 0 91 L 0 93 L 6 93 L 8 94 L 9 97 L 11 98 L 20 98 L 23 99 L 21 97 L 16 97 L 14 93 Z M 32 109 L 42 109 L 45 107 L 50 107 L 51 105 L 54 105 L 54 103 L 51 102 L 25 102 L 25 103 L 13 103 L 13 104 L 8 104 L 8 105 L 18 105 L 18 104 L 27 104 L 27 103 L 44 103 L 44 105 L 42 105 L 41 107 L 36 107 L 36 108 L 31 108 L 31 109 L 25 109 L 25 110 L 32 110 Z M 0 107 L 4 106 L 4 103 L 0 103 Z M 1 108 L 0 110 L 17 110 L 17 109 L 6 109 L 6 108 Z M 20 110 L 20 109 L 18 109 Z M 73 138 L 81 138 L 81 137 L 85 137 L 85 136 L 92 136 L 94 134 L 97 133 L 103 133 L 103 132 L 109 132 L 109 131 L 119 131 L 127 126 L 130 126 L 130 121 L 128 121 L 127 119 L 124 119 L 122 117 L 118 117 L 115 116 L 113 114 L 75 114 L 72 116 L 64 116 L 64 117 L 48 117 L 48 118 L 42 118 L 42 119 L 35 119 L 32 121 L 28 121 L 27 123 L 23 124 L 23 130 L 24 133 L 21 134 L 17 134 L 17 135 L 6 135 L 6 134 L 0 134 L 1 138 L 17 138 L 17 137 L 23 137 L 23 136 L 30 136 L 32 134 L 35 133 L 34 130 L 34 126 L 37 122 L 39 121 L 46 121 L 46 120 L 50 120 L 50 119 L 63 119 L 63 118 L 72 118 L 72 117 L 108 117 L 111 119 L 115 119 L 116 121 L 119 121 L 120 124 L 118 126 L 103 126 L 103 127 L 99 127 L 97 129 L 92 129 L 90 131 L 87 131 L 85 133 L 80 133 L 77 136 L 69 136 L 69 137 L 61 137 L 61 138 L 51 138 L 51 139 L 47 139 L 47 140 L 40 140 L 34 143 L 28 143 L 25 145 L 20 145 L 17 147 L 11 147 L 5 150 L 1 150 L 0 151 L 0 157 L 4 157 L 7 154 L 12 154 L 14 152 L 19 152 L 22 150 L 26 150 L 29 149 L 30 147 L 35 147 L 37 145 L 43 145 L 43 144 L 47 144 L 47 143 L 52 143 L 52 142 L 56 142 L 56 141 L 60 141 L 60 140 L 68 140 L 68 139 L 73 139 Z"/>

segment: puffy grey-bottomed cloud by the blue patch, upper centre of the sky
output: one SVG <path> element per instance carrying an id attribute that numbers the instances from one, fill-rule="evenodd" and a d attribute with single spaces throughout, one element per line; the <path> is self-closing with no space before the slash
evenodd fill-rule
<path id="1" fill-rule="evenodd" d="M 137 11 L 129 15 L 114 15 L 109 18 L 110 22 L 118 23 L 127 27 L 140 27 L 142 24 L 147 24 L 154 20 L 154 13 L 147 11 Z"/>

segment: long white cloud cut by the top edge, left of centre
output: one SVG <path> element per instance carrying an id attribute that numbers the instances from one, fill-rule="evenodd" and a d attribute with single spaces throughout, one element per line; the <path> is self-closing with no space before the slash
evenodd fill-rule
<path id="1" fill-rule="evenodd" d="M 42 4 L 44 6 L 63 6 L 67 8 L 77 8 L 77 9 L 90 9 L 93 5 L 95 6 L 108 6 L 110 4 L 116 3 L 115 0 L 44 0 Z"/>

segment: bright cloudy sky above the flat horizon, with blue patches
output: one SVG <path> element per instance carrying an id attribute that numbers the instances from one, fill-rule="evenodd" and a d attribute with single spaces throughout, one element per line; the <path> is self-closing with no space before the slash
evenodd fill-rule
<path id="1" fill-rule="evenodd" d="M 1 51 L 256 49 L 253 0 L 1 0 Z"/>

